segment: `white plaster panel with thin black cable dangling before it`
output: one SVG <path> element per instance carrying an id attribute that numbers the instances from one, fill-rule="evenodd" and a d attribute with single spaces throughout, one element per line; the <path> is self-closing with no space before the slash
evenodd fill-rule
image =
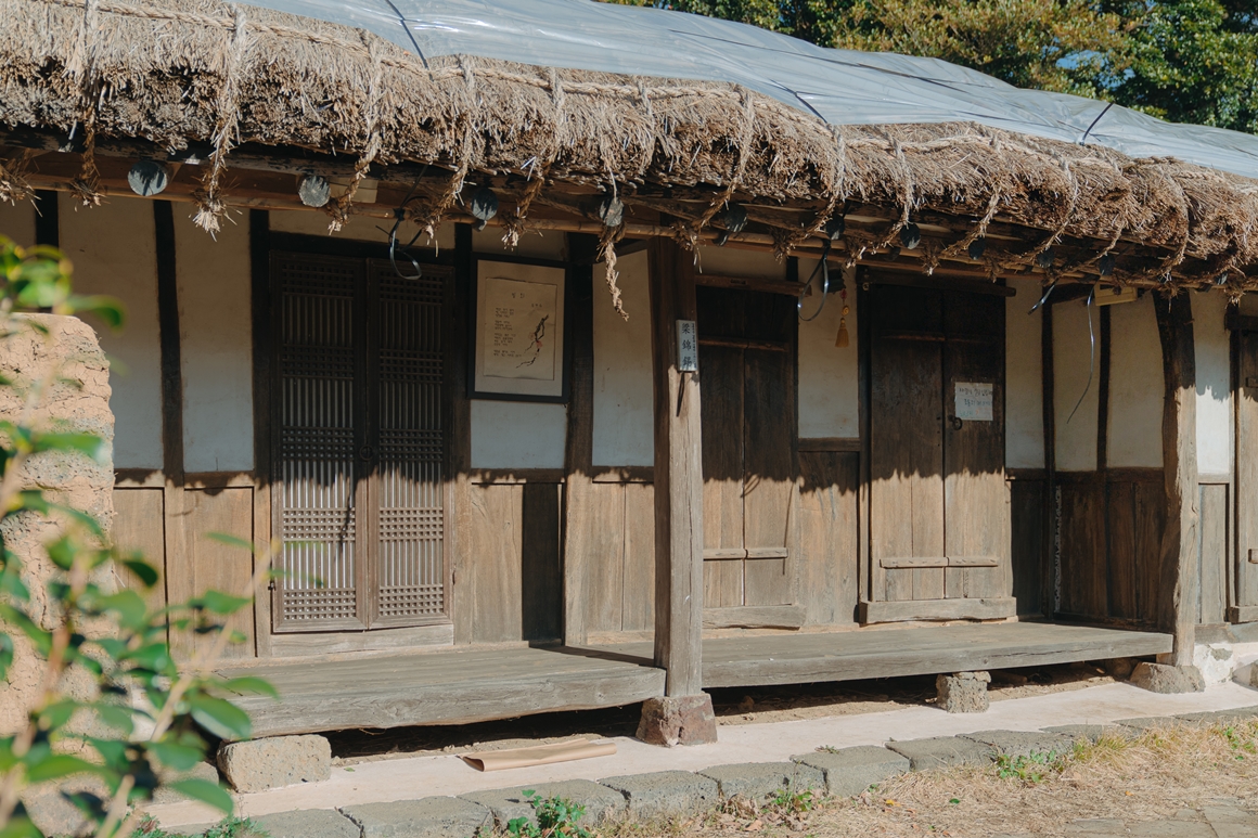
<path id="1" fill-rule="evenodd" d="M 1097 360 L 1092 386 L 1083 404 L 1067 422 L 1088 381 L 1088 313 L 1082 299 L 1053 307 L 1053 414 L 1057 439 L 1057 468 L 1063 472 L 1088 472 L 1097 467 L 1097 376 L 1101 367 L 1101 326 L 1092 310 Z"/>

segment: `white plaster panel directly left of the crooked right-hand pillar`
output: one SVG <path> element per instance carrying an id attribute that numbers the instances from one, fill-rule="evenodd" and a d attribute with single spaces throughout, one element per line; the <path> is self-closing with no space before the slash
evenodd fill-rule
<path id="1" fill-rule="evenodd" d="M 1161 468 L 1162 391 L 1152 294 L 1111 306 L 1108 466 Z"/>

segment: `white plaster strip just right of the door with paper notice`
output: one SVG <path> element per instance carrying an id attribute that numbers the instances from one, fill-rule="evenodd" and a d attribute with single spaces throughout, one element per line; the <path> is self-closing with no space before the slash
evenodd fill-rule
<path id="1" fill-rule="evenodd" d="M 1028 315 L 1043 286 L 1010 279 L 1018 294 L 1005 299 L 1005 466 L 1044 468 L 1043 308 Z"/>

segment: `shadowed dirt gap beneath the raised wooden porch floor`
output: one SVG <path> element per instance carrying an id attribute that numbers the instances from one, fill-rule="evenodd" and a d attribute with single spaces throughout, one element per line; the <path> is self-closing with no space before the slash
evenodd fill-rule
<path id="1" fill-rule="evenodd" d="M 1083 690 L 1113 678 L 1099 666 L 1072 663 L 993 671 L 991 701 Z M 720 725 L 754 725 L 827 716 L 877 713 L 935 701 L 935 677 L 882 678 L 838 683 L 712 690 Z M 501 750 L 572 736 L 633 736 L 639 708 L 611 707 L 542 713 L 477 725 L 351 730 L 327 734 L 335 765 L 469 750 Z"/>

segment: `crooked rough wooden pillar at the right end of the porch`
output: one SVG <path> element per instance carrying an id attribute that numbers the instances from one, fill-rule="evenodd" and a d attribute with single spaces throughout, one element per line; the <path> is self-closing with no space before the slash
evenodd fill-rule
<path id="1" fill-rule="evenodd" d="M 1159 661 L 1191 666 L 1198 599 L 1196 351 L 1191 294 L 1155 294 L 1157 335 L 1162 345 L 1162 468 L 1166 528 L 1161 549 L 1159 620 L 1175 638 Z"/>

